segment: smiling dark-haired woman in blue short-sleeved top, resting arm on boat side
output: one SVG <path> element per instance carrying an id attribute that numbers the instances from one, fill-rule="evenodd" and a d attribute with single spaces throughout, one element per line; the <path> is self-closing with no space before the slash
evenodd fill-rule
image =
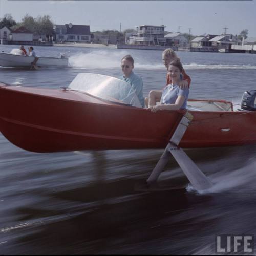
<path id="1" fill-rule="evenodd" d="M 159 105 L 156 105 L 154 99 L 149 97 L 148 107 L 152 112 L 156 112 L 158 110 L 179 110 L 186 108 L 189 89 L 181 89 L 178 86 L 181 81 L 180 74 L 182 70 L 182 64 L 178 59 L 170 62 L 168 66 L 168 73 L 172 78 L 172 84 L 168 84 L 164 88 Z"/>

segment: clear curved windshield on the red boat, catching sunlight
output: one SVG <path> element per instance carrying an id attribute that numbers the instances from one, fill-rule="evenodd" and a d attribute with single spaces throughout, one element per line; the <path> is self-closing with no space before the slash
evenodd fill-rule
<path id="1" fill-rule="evenodd" d="M 117 104 L 129 104 L 137 108 L 142 108 L 131 85 L 115 77 L 92 73 L 79 73 L 68 88 L 86 92 Z"/>

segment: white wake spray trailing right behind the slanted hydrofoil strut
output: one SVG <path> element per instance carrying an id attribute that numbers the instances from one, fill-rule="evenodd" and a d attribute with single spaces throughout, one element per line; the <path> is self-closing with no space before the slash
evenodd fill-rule
<path id="1" fill-rule="evenodd" d="M 255 197 L 256 183 L 256 157 L 253 155 L 255 147 L 238 146 L 229 156 L 224 156 L 217 161 L 198 164 L 213 186 L 210 189 L 199 191 L 199 194 L 222 193 L 232 191 Z M 228 163 L 228 164 L 227 164 Z M 195 191 L 189 184 L 187 191 Z"/>

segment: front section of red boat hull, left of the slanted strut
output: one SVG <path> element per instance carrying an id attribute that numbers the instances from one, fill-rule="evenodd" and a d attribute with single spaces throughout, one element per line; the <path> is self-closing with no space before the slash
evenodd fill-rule
<path id="1" fill-rule="evenodd" d="M 80 91 L 0 86 L 0 131 L 33 152 L 161 148 L 182 115 Z"/>

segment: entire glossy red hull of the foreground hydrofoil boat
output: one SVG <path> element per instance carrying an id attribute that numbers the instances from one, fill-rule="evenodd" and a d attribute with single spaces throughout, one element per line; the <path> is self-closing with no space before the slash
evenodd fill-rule
<path id="1" fill-rule="evenodd" d="M 256 112 L 191 111 L 180 146 L 256 143 Z M 184 111 L 158 111 L 106 102 L 75 91 L 0 83 L 0 131 L 32 152 L 164 148 Z"/>

